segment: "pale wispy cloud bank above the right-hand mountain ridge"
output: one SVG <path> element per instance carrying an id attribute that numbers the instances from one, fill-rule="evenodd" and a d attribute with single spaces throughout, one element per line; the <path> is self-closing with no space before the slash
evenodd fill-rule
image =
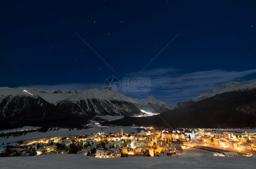
<path id="1" fill-rule="evenodd" d="M 171 68 L 166 69 L 158 72 L 174 72 L 174 74 L 159 74 L 158 76 L 154 74 L 151 92 L 155 93 L 158 99 L 168 103 L 185 101 L 203 93 L 210 93 L 213 88 L 230 81 L 237 81 L 243 84 L 251 83 L 253 80 L 244 81 L 243 78 L 256 73 L 256 69 L 254 69 L 241 72 L 209 70 L 179 74 Z M 168 71 L 169 69 L 170 71 Z M 149 72 L 151 71 L 149 70 Z"/>

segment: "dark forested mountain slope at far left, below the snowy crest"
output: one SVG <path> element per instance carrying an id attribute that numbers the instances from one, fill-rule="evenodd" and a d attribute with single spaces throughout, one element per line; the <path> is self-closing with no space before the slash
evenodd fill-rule
<path id="1" fill-rule="evenodd" d="M 16 91 L 17 93 L 17 91 Z M 39 96 L 30 94 L 0 96 L 0 128 L 23 125 L 42 125 L 66 120 L 71 114 Z"/>

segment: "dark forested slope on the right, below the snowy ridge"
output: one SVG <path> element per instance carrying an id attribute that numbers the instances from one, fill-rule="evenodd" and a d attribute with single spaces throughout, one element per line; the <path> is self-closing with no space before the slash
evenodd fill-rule
<path id="1" fill-rule="evenodd" d="M 135 124 L 155 127 L 171 125 L 172 128 L 253 128 L 256 124 L 255 107 L 256 88 L 252 88 L 216 94 L 181 109 L 163 112 L 161 117 L 124 117 L 101 124 L 127 126 Z"/>

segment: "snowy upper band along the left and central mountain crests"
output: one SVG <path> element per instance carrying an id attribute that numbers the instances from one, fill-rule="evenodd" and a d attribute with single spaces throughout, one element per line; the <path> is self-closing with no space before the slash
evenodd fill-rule
<path id="1" fill-rule="evenodd" d="M 77 93 L 78 92 L 78 93 Z M 121 94 L 119 92 L 109 92 L 105 88 L 100 89 L 87 89 L 84 91 L 59 91 L 59 93 L 47 93 L 41 89 L 38 88 L 9 88 L 9 87 L 0 87 L 0 96 L 7 96 L 7 95 L 26 95 L 26 96 L 40 96 L 47 102 L 57 104 L 60 101 L 67 100 L 71 102 L 77 102 L 80 100 L 86 100 L 87 99 L 99 99 L 102 101 L 110 102 L 110 100 L 118 100 L 120 102 L 131 102 L 138 106 L 138 108 L 143 107 L 144 105 L 147 105 L 149 102 L 152 104 L 157 104 L 160 107 L 165 107 L 169 110 L 171 108 L 164 102 L 161 102 L 154 98 L 153 96 L 149 96 L 145 99 L 133 99 L 131 97 L 125 96 L 124 94 Z M 96 112 L 98 110 L 95 110 Z"/>

